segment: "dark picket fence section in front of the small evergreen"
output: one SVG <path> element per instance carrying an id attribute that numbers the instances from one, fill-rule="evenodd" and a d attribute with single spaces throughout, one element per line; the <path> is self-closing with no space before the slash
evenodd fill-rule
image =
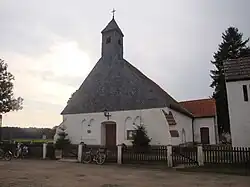
<path id="1" fill-rule="evenodd" d="M 122 149 L 123 163 L 163 163 L 167 164 L 167 146 L 150 146 L 147 150 L 138 150 L 132 146 Z"/>

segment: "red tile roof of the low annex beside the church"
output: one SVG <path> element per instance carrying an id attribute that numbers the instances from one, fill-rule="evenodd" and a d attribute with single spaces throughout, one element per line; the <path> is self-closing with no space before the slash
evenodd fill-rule
<path id="1" fill-rule="evenodd" d="M 216 104 L 214 99 L 182 101 L 180 104 L 190 111 L 194 117 L 216 116 Z"/>

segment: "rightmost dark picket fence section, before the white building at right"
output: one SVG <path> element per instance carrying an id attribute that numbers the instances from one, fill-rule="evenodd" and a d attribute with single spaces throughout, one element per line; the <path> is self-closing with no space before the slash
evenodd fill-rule
<path id="1" fill-rule="evenodd" d="M 205 165 L 231 165 L 250 168 L 250 148 L 203 146 Z"/>

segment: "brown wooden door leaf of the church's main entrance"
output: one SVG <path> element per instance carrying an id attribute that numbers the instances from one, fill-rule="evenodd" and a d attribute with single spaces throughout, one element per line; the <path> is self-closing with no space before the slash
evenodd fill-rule
<path id="1" fill-rule="evenodd" d="M 106 124 L 106 147 L 116 146 L 116 124 Z"/>

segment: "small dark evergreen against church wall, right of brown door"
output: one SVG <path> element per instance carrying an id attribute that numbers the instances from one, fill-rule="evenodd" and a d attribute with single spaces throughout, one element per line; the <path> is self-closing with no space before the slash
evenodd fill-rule
<path id="1" fill-rule="evenodd" d="M 133 147 L 137 151 L 146 151 L 149 148 L 150 141 L 146 128 L 143 125 L 137 125 L 133 134 Z"/>

